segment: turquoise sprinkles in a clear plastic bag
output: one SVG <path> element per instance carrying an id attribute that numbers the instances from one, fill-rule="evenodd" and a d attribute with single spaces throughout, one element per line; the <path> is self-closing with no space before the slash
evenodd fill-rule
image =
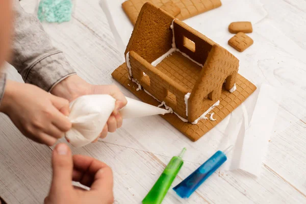
<path id="1" fill-rule="evenodd" d="M 71 20 L 71 0 L 40 0 L 37 16 L 43 22 L 65 22 Z"/>

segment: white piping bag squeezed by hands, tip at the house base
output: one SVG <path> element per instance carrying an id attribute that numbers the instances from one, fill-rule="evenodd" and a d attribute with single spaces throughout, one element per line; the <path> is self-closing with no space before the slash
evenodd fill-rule
<path id="1" fill-rule="evenodd" d="M 170 110 L 139 100 L 128 97 L 126 100 L 127 105 L 120 110 L 124 119 L 170 113 Z M 94 141 L 114 111 L 115 103 L 115 98 L 107 94 L 84 95 L 72 101 L 68 116 L 72 128 L 65 133 L 67 141 L 74 147 L 82 147 Z"/>

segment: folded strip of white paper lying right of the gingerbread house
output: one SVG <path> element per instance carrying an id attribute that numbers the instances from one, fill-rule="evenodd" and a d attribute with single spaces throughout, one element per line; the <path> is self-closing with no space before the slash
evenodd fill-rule
<path id="1" fill-rule="evenodd" d="M 261 86 L 250 125 L 246 127 L 240 169 L 259 176 L 280 100 L 281 93 L 276 88 L 265 84 Z"/>

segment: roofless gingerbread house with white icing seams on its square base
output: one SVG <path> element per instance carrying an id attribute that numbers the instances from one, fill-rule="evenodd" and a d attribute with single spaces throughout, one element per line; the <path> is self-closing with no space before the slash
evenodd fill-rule
<path id="1" fill-rule="evenodd" d="M 130 90 L 136 85 L 133 92 L 145 102 L 171 108 L 163 117 L 194 141 L 256 89 L 238 74 L 235 56 L 150 3 L 140 11 L 125 60 L 113 77 Z M 216 118 L 209 119 L 213 110 Z"/>

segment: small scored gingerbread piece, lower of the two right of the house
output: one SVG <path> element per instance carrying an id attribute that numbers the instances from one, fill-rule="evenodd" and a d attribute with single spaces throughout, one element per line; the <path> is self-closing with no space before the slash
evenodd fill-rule
<path id="1" fill-rule="evenodd" d="M 246 48 L 253 44 L 253 40 L 246 34 L 240 32 L 228 40 L 228 44 L 237 49 L 239 52 L 243 52 Z"/>

